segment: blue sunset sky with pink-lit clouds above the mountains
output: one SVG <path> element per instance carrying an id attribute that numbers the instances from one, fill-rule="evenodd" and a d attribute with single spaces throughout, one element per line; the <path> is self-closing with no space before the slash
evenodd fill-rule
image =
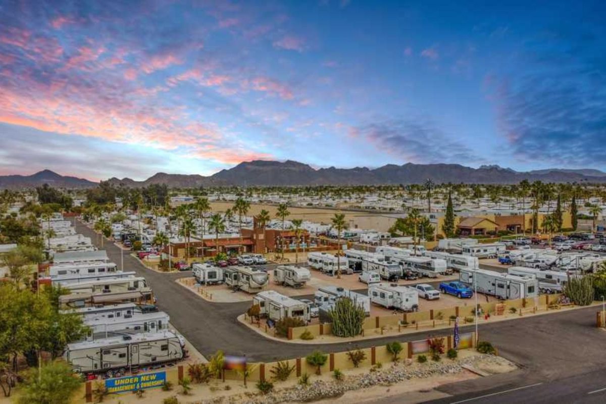
<path id="1" fill-rule="evenodd" d="M 604 1 L 0 1 L 0 174 L 605 156 Z"/>

